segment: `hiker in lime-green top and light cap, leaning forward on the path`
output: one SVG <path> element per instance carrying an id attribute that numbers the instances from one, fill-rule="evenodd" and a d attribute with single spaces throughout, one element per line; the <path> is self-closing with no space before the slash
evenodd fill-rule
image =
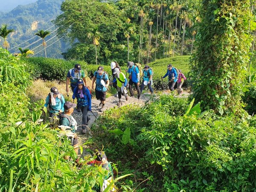
<path id="1" fill-rule="evenodd" d="M 115 75 L 116 82 L 117 82 L 117 93 L 118 93 L 118 99 L 119 99 L 119 102 L 117 103 L 117 105 L 120 106 L 122 104 L 121 102 L 122 95 L 125 96 L 126 101 L 128 100 L 127 90 L 125 90 L 125 87 L 127 85 L 127 79 L 125 77 L 125 74 L 120 72 L 118 68 L 114 69 L 113 75 Z"/>

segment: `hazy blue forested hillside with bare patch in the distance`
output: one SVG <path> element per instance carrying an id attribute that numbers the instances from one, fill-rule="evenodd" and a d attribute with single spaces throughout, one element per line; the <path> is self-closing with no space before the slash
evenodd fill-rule
<path id="1" fill-rule="evenodd" d="M 49 29 L 50 32 L 55 30 L 55 26 L 52 24 L 52 20 L 56 18 L 57 15 L 61 14 L 61 3 L 63 0 L 38 0 L 35 3 L 30 3 L 28 5 L 20 5 L 15 9 L 8 13 L 4 13 L 0 15 L 0 25 L 8 24 L 8 28 L 14 29 L 15 32 L 12 35 L 8 36 L 8 42 L 10 44 L 10 52 L 17 51 L 17 47 L 12 49 L 18 44 L 23 43 L 24 41 L 29 40 L 30 38 L 35 36 L 35 32 L 41 29 Z M 46 41 L 55 36 L 55 33 L 47 36 Z M 19 47 L 25 47 L 36 40 L 40 39 L 39 37 L 35 37 L 30 41 L 22 44 Z M 57 40 L 57 37 L 53 38 L 51 41 L 47 43 L 47 45 L 52 44 Z M 33 44 L 29 49 L 34 49 L 38 47 L 42 42 L 38 41 Z M 61 57 L 61 47 L 65 47 L 60 41 L 56 42 L 54 46 L 50 46 L 47 48 L 47 56 L 60 58 Z M 35 49 L 35 53 L 43 49 L 42 47 L 38 47 Z M 40 52 L 35 56 L 43 56 L 44 52 Z"/>

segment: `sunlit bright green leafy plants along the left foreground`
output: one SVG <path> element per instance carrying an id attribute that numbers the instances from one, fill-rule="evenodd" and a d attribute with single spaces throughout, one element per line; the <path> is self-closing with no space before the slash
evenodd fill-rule
<path id="1" fill-rule="evenodd" d="M 77 169 L 66 136 L 38 122 L 43 103 L 31 104 L 25 94 L 29 69 L 0 48 L 0 192 L 93 192 L 107 171 L 87 165 Z"/>

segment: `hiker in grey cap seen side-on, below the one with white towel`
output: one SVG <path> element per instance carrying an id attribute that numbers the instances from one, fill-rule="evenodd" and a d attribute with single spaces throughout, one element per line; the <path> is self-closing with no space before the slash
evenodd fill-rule
<path id="1" fill-rule="evenodd" d="M 75 103 L 65 102 L 64 103 L 64 113 L 60 116 L 60 129 L 61 131 L 70 130 L 71 133 L 67 132 L 67 137 L 71 139 L 71 144 L 74 147 L 76 154 L 78 154 L 78 138 L 75 134 L 77 128 L 77 122 L 72 116 L 74 108 L 76 107 Z M 64 128 L 62 126 L 67 126 Z"/>

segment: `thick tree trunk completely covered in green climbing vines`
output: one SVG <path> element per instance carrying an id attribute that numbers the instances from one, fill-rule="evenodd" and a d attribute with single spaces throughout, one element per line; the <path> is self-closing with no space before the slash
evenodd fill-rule
<path id="1" fill-rule="evenodd" d="M 249 61 L 250 0 L 204 0 L 191 67 L 193 96 L 204 109 L 239 112 Z"/>

